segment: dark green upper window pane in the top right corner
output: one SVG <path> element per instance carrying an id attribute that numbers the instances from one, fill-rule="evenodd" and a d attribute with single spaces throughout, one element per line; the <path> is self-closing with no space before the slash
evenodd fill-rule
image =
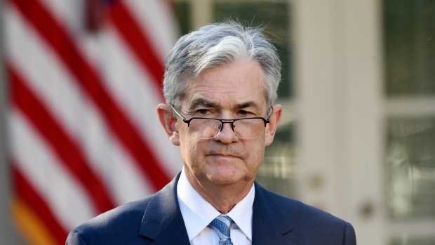
<path id="1" fill-rule="evenodd" d="M 435 1 L 384 0 L 387 95 L 435 95 Z"/>

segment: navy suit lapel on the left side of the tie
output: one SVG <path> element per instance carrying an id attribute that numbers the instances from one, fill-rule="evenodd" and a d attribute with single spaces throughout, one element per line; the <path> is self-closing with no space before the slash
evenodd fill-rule
<path id="1" fill-rule="evenodd" d="M 149 244 L 190 244 L 177 198 L 180 173 L 157 192 L 145 209 L 139 234 Z"/>

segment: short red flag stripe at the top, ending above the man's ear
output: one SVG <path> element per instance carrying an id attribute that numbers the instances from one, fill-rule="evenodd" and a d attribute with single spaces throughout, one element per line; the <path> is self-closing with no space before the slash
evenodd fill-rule
<path id="1" fill-rule="evenodd" d="M 156 87 L 159 88 L 158 91 L 161 91 L 163 63 L 159 56 L 156 55 L 147 35 L 142 32 L 140 25 L 133 18 L 132 13 L 129 13 L 128 8 L 124 6 L 122 1 L 116 1 L 109 8 L 109 16 L 109 20 L 116 27 L 115 29 L 123 38 L 123 41 L 131 48 L 142 69 L 152 76 Z M 163 98 L 161 93 L 159 95 Z"/>

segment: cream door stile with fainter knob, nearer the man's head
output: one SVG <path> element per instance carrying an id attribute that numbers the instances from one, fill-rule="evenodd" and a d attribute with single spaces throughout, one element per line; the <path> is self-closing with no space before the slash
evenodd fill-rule
<path id="1" fill-rule="evenodd" d="M 334 178 L 340 165 L 343 118 L 337 3 L 295 0 L 292 7 L 295 95 L 300 110 L 300 196 L 309 204 L 342 215 Z"/>

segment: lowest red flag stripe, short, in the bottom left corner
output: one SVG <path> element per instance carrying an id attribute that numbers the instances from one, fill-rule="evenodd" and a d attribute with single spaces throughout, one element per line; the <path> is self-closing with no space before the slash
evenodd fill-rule
<path id="1" fill-rule="evenodd" d="M 16 166 L 15 163 L 12 164 L 11 171 L 15 193 L 22 201 L 32 207 L 34 214 L 46 225 L 46 228 L 51 232 L 58 244 L 65 243 L 67 230 L 60 224 L 46 201 L 34 190 Z"/>

